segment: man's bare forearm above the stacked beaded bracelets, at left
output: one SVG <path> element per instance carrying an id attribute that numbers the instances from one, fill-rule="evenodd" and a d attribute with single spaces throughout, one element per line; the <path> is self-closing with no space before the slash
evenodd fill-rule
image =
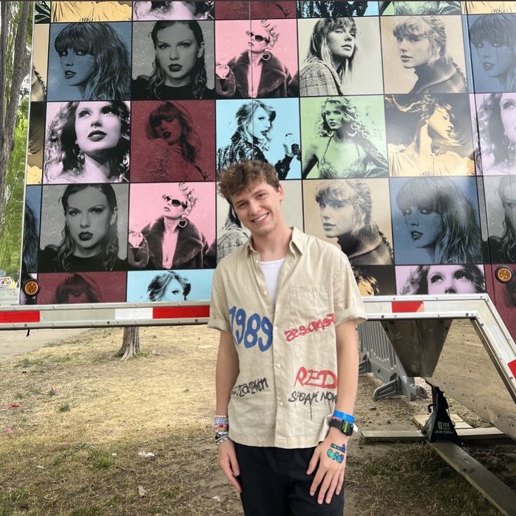
<path id="1" fill-rule="evenodd" d="M 238 377 L 238 353 L 233 344 L 233 336 L 221 332 L 219 353 L 217 354 L 217 370 L 215 372 L 215 392 L 217 394 L 217 414 L 227 415 L 231 389 Z"/>

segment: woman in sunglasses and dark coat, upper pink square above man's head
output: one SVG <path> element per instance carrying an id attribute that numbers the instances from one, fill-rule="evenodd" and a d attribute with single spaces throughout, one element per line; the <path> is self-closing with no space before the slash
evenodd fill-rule
<path id="1" fill-rule="evenodd" d="M 298 96 L 299 86 L 287 67 L 273 55 L 280 34 L 269 20 L 252 20 L 247 49 L 227 65 L 217 64 L 217 94 L 224 98 Z"/>

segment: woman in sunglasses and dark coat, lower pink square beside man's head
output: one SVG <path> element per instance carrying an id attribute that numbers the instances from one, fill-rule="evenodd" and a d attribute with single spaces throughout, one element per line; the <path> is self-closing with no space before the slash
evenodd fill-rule
<path id="1" fill-rule="evenodd" d="M 141 231 L 129 232 L 129 265 L 136 269 L 211 269 L 215 251 L 188 220 L 198 198 L 187 183 L 169 183 L 161 214 Z"/>

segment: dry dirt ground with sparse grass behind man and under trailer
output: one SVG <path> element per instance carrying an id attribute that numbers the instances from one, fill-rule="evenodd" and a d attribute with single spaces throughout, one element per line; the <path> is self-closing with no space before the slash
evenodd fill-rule
<path id="1" fill-rule="evenodd" d="M 212 444 L 217 333 L 142 328 L 143 356 L 125 363 L 112 357 L 121 340 L 121 329 L 89 330 L 0 361 L 1 516 L 243 514 Z M 379 385 L 371 374 L 360 379 L 361 430 L 415 430 L 411 418 L 427 413 L 429 399 L 373 401 Z M 485 425 L 450 403 L 470 425 Z M 516 489 L 513 441 L 467 449 Z M 425 444 L 354 437 L 345 494 L 347 516 L 498 515 Z"/>

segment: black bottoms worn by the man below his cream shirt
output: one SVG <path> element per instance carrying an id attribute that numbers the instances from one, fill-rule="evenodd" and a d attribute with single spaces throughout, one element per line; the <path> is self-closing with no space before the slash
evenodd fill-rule
<path id="1" fill-rule="evenodd" d="M 317 503 L 307 475 L 315 448 L 283 449 L 235 443 L 245 516 L 342 516 L 344 486 L 332 501 Z"/>

